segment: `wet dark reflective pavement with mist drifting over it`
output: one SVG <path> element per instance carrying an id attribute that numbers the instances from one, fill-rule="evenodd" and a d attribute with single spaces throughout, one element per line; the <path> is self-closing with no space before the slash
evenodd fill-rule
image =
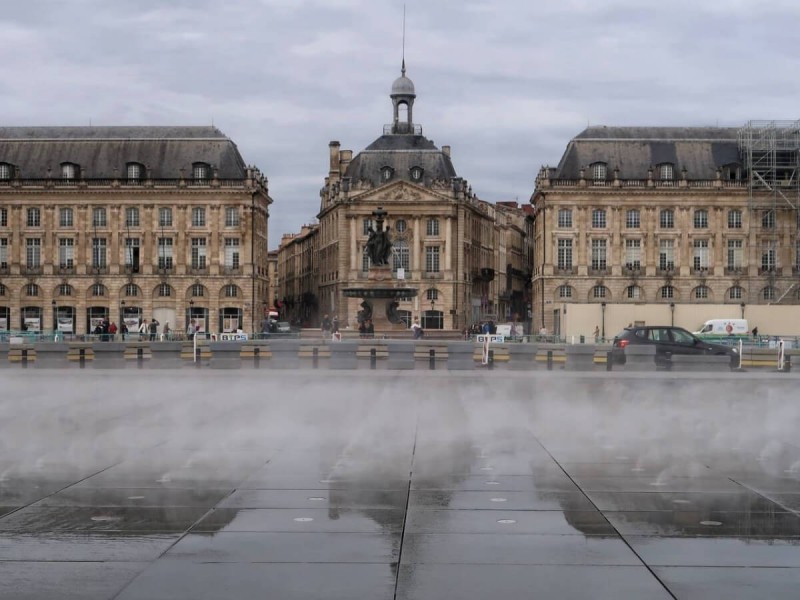
<path id="1" fill-rule="evenodd" d="M 33 374 L 1 599 L 798 597 L 794 374 Z"/>

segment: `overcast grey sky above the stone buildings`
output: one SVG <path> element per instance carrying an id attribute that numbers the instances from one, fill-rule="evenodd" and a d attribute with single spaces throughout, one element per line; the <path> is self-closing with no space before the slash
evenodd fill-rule
<path id="1" fill-rule="evenodd" d="M 800 119 L 795 0 L 26 0 L 0 12 L 0 125 L 210 125 L 268 178 L 269 246 L 313 223 L 328 143 L 414 121 L 490 202 L 587 125 Z"/>

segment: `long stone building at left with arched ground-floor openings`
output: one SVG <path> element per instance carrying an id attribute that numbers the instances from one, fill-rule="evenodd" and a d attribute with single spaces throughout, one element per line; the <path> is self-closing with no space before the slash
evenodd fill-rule
<path id="1" fill-rule="evenodd" d="M 0 329 L 249 330 L 271 202 L 214 127 L 0 128 Z"/>

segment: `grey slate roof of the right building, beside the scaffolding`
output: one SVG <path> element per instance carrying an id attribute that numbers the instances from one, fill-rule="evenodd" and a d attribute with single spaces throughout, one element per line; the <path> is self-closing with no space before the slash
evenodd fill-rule
<path id="1" fill-rule="evenodd" d="M 581 167 L 618 167 L 621 179 L 646 179 L 650 167 L 672 163 L 675 178 L 685 168 L 688 179 L 714 179 L 718 168 L 741 164 L 738 129 L 732 127 L 588 127 L 567 145 L 557 179 L 578 179 Z M 657 177 L 657 174 L 655 175 Z M 591 177 L 587 171 L 586 177 Z"/>

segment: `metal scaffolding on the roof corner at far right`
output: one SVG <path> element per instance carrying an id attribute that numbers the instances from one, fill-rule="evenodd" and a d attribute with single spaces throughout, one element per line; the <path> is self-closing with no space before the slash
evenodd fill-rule
<path id="1" fill-rule="evenodd" d="M 749 121 L 738 141 L 750 208 L 800 208 L 800 121 Z"/>

